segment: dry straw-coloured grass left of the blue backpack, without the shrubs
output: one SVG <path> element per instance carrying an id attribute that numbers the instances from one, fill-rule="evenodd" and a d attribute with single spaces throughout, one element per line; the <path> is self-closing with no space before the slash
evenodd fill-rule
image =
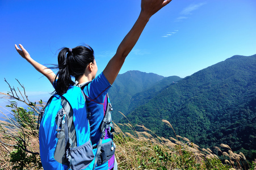
<path id="1" fill-rule="evenodd" d="M 8 122 L 7 122 L 8 121 Z M 0 165 L 1 169 L 17 169 L 14 168 L 20 162 L 11 162 L 11 154 L 15 155 L 18 143 L 26 151 L 27 157 L 33 153 L 39 153 L 39 138 L 36 130 L 32 130 L 29 126 L 19 126 L 15 120 L 6 117 L 6 121 L 0 121 Z M 19 142 L 18 142 L 19 141 Z M 18 154 L 17 154 L 18 155 Z M 39 159 L 39 155 L 33 154 Z M 37 165 L 28 163 L 28 169 L 39 169 Z"/>

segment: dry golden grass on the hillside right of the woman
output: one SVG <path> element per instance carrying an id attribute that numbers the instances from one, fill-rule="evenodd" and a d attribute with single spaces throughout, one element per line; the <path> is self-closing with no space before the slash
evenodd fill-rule
<path id="1" fill-rule="evenodd" d="M 166 120 L 163 120 L 163 122 L 172 127 L 170 122 Z M 133 130 L 131 125 L 123 124 L 121 126 L 127 126 Z M 138 132 L 133 130 L 131 133 L 123 133 L 119 127 L 116 127 L 119 132 L 116 133 L 114 142 L 117 146 L 116 158 L 120 169 L 143 169 L 145 167 L 147 167 L 146 169 L 157 169 L 160 165 L 167 169 L 177 169 L 182 166 L 183 168 L 186 167 L 188 160 L 194 160 L 195 166 L 200 164 L 200 168 L 205 169 L 205 162 L 208 159 L 219 160 L 219 157 L 212 150 L 200 148 L 187 138 L 176 135 L 176 139 L 166 139 L 156 136 L 156 134 L 143 125 L 139 125 L 139 127 L 145 131 Z M 228 145 L 222 144 L 221 146 L 230 149 Z M 158 147 L 158 151 L 161 150 L 165 155 L 169 155 L 169 161 L 160 159 L 156 147 Z M 222 152 L 219 147 L 215 148 L 217 151 Z M 184 153 L 190 153 L 190 158 L 187 158 Z M 222 153 L 228 157 L 225 159 L 227 165 L 230 165 L 233 169 L 242 168 L 240 158 L 243 158 L 243 156 L 241 154 L 236 154 L 231 149 L 228 152 Z M 234 166 L 234 162 L 237 163 L 237 167 Z"/>

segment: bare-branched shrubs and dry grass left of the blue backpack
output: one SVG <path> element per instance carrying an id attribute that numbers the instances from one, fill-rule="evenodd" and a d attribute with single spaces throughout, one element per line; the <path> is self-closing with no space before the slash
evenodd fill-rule
<path id="1" fill-rule="evenodd" d="M 6 116 L 6 121 L 0 121 L 0 169 L 41 167 L 36 114 L 38 115 L 43 107 L 43 101 L 40 100 L 38 104 L 32 103 L 28 100 L 24 86 L 22 84 L 20 86 L 23 88 L 24 94 L 20 92 L 19 88 L 19 92 L 15 88 L 11 88 L 10 84 L 10 92 L 0 93 L 1 97 L 15 100 L 6 106 L 11 108 L 12 117 Z M 18 107 L 16 101 L 26 104 L 28 110 Z M 3 114 L 2 111 L 1 113 Z"/>

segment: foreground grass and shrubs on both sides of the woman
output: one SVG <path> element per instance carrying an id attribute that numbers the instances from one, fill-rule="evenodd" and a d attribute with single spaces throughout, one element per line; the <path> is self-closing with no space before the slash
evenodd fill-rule
<path id="1" fill-rule="evenodd" d="M 12 90 L 14 90 L 12 88 Z M 28 109 L 18 107 L 12 102 L 12 114 L 16 120 L 6 117 L 0 122 L 0 169 L 42 169 L 39 155 L 36 113 L 43 107 L 43 102 L 31 103 L 11 94 L 1 95 L 26 103 Z M 26 94 L 24 95 L 26 96 Z M 172 130 L 170 122 L 162 120 Z M 130 133 L 123 133 L 120 126 L 127 126 Z M 175 134 L 175 138 L 158 137 L 143 125 L 136 131 L 131 124 L 115 124 L 116 159 L 119 169 L 241 169 L 255 168 L 255 162 L 247 163 L 242 153 L 235 154 L 229 148 L 221 156 L 225 163 L 211 150 L 200 148 Z M 223 145 L 221 147 L 228 147 Z M 244 158 L 244 159 L 242 159 Z"/>

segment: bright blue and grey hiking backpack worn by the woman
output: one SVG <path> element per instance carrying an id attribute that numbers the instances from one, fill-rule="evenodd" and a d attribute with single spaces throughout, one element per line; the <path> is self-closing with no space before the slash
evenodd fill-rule
<path id="1" fill-rule="evenodd" d="M 60 96 L 53 95 L 41 112 L 39 128 L 40 157 L 44 169 L 108 169 L 114 164 L 115 143 L 111 119 L 112 107 L 100 125 L 99 142 L 91 144 L 90 114 L 80 87 L 70 86 Z M 111 134 L 106 138 L 106 133 Z M 109 135 L 108 135 L 109 136 Z"/>

